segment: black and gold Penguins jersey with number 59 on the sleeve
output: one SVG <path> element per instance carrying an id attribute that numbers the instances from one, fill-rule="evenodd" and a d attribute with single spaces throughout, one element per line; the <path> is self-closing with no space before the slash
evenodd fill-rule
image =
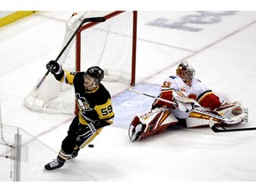
<path id="1" fill-rule="evenodd" d="M 60 82 L 74 85 L 78 117 L 81 124 L 94 123 L 96 129 L 113 124 L 114 111 L 111 96 L 103 84 L 93 91 L 84 87 L 85 72 L 64 71 L 55 76 Z"/>

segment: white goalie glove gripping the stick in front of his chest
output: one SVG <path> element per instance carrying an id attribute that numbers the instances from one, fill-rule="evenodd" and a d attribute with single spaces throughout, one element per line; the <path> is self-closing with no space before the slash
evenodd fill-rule
<path id="1" fill-rule="evenodd" d="M 187 94 L 185 92 L 181 91 L 173 91 L 172 97 L 174 102 L 177 103 L 177 107 L 180 111 L 189 112 L 193 108 L 200 107 L 200 104 L 191 98 L 188 98 Z"/>

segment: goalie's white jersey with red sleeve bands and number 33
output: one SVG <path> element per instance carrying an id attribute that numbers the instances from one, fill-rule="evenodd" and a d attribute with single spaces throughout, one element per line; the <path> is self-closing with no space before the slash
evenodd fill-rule
<path id="1" fill-rule="evenodd" d="M 196 100 L 204 108 L 211 108 L 213 110 L 215 108 L 219 108 L 221 105 L 219 97 L 196 78 L 193 78 L 190 86 L 188 86 L 188 84 L 183 82 L 180 76 L 167 77 L 162 84 L 159 97 L 164 100 L 173 101 L 173 91 L 185 92 L 189 98 Z M 169 108 L 172 108 L 174 116 L 177 116 L 178 118 L 188 117 L 188 113 L 181 113 L 178 108 L 174 108 L 172 104 L 166 103 L 162 100 L 156 100 L 153 103 L 153 107 L 154 106 L 168 106 Z"/>

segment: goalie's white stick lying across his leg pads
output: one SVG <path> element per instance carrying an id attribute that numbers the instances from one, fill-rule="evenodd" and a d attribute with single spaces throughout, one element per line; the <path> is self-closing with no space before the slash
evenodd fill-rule
<path id="1" fill-rule="evenodd" d="M 154 98 L 154 99 L 156 99 L 156 100 L 162 100 L 162 101 L 164 101 L 164 102 L 166 102 L 166 103 L 170 103 L 170 104 L 172 104 L 172 105 L 177 106 L 177 103 L 176 103 L 176 102 L 173 102 L 173 101 L 171 101 L 171 100 L 164 100 L 164 99 L 162 99 L 162 98 L 158 98 L 158 97 L 156 97 L 156 96 L 149 95 L 149 94 L 144 93 L 144 92 L 140 92 L 140 91 L 137 91 L 137 90 L 133 90 L 132 88 L 129 88 L 129 91 L 131 91 L 131 92 L 137 92 L 137 93 L 139 93 L 139 94 L 142 94 L 142 95 L 145 95 L 145 96 Z M 229 122 L 232 122 L 232 121 L 233 121 L 232 119 L 229 119 L 229 118 L 226 118 L 226 117 L 223 117 L 223 116 L 218 116 L 218 115 L 212 114 L 211 112 L 208 112 L 208 111 L 199 110 L 199 109 L 197 109 L 197 108 L 193 108 L 193 110 L 196 111 L 197 113 L 202 114 L 202 115 L 211 116 L 211 117 L 213 117 L 213 118 L 219 119 L 220 121 L 229 121 Z"/>

